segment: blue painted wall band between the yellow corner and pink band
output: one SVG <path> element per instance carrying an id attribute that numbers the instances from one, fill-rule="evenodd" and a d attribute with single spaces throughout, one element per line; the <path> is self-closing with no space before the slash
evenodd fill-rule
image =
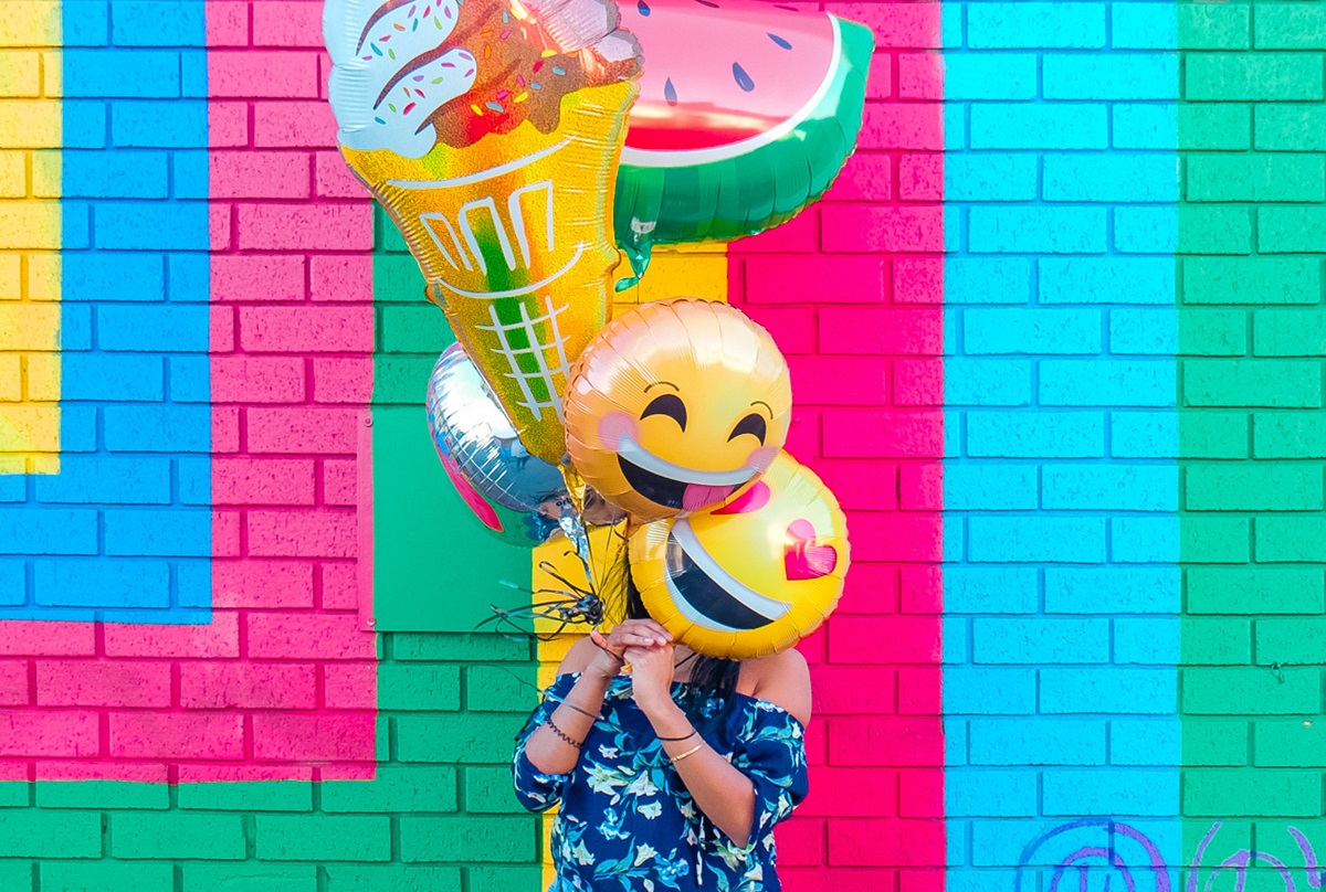
<path id="1" fill-rule="evenodd" d="M 62 9 L 64 455 L 0 510 L 0 619 L 211 619 L 204 5 Z"/>

